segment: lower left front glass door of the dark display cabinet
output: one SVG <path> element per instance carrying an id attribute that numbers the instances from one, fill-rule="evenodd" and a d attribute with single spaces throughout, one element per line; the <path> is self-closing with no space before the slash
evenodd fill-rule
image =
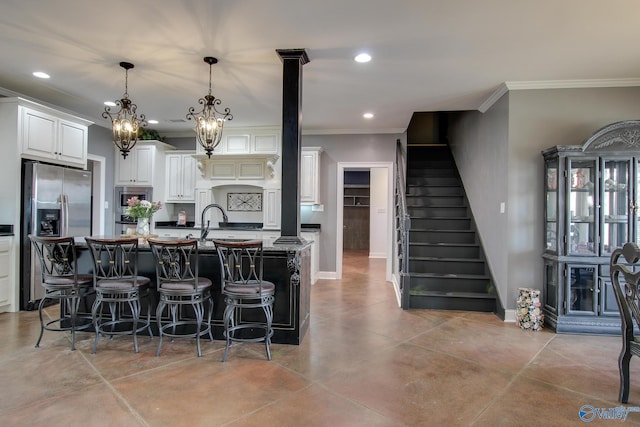
<path id="1" fill-rule="evenodd" d="M 596 314 L 596 266 L 568 265 L 567 313 Z"/>

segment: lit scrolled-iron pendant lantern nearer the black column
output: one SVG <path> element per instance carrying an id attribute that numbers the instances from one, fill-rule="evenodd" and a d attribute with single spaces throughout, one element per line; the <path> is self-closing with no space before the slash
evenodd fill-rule
<path id="1" fill-rule="evenodd" d="M 220 144 L 224 122 L 232 120 L 233 116 L 229 108 L 225 108 L 224 113 L 218 111 L 216 106 L 222 101 L 211 95 L 211 66 L 217 64 L 218 60 L 212 56 L 205 56 L 204 62 L 209 64 L 209 94 L 198 100 L 203 106 L 202 111 L 196 113 L 195 108 L 190 107 L 187 119 L 196 122 L 196 140 L 211 158 L 213 150 Z"/>

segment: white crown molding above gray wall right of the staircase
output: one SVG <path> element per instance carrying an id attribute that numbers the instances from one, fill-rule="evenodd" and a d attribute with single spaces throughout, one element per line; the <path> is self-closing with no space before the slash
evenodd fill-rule
<path id="1" fill-rule="evenodd" d="M 604 87 L 634 87 L 640 86 L 640 78 L 628 79 L 585 79 L 585 80 L 541 80 L 504 82 L 478 107 L 481 113 L 486 112 L 498 99 L 510 90 L 532 89 L 585 89 Z"/>

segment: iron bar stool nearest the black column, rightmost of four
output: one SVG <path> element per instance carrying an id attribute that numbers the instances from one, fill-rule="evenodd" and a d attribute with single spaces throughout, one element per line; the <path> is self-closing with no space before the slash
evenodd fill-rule
<path id="1" fill-rule="evenodd" d="M 222 295 L 225 302 L 223 319 L 227 343 L 222 361 L 227 360 L 229 347 L 235 341 L 264 341 L 267 359 L 271 360 L 269 347 L 273 335 L 273 301 L 276 287 L 272 282 L 262 280 L 262 241 L 213 242 L 220 260 Z M 264 322 L 246 319 L 246 311 L 257 308 L 264 312 Z M 253 329 L 264 329 L 264 334 L 255 336 L 251 334 L 253 331 L 249 331 Z M 243 335 L 242 332 L 245 331 L 247 334 Z"/>

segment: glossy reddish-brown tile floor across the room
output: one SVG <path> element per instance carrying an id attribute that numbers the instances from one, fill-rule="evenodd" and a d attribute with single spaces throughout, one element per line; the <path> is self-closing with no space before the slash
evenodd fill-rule
<path id="1" fill-rule="evenodd" d="M 0 315 L 3 426 L 568 426 L 620 406 L 619 337 L 527 332 L 493 314 L 403 311 L 384 261 L 345 256 L 312 289 L 300 346 L 45 332 L 36 312 Z M 640 361 L 627 407 L 640 406 Z M 596 418 L 591 425 L 620 425 Z M 629 413 L 625 425 L 640 425 Z"/>

